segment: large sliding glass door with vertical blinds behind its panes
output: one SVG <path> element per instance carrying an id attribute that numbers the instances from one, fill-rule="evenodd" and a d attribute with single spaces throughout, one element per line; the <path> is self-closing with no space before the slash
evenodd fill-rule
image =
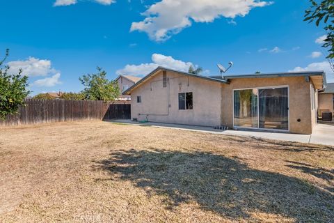
<path id="1" fill-rule="evenodd" d="M 288 88 L 234 90 L 234 126 L 289 130 Z"/>

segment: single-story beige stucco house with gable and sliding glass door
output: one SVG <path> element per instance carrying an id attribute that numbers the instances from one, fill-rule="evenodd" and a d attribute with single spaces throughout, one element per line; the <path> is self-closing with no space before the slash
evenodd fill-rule
<path id="1" fill-rule="evenodd" d="M 323 71 L 204 77 L 159 67 L 123 93 L 138 121 L 310 134 L 324 86 Z"/>

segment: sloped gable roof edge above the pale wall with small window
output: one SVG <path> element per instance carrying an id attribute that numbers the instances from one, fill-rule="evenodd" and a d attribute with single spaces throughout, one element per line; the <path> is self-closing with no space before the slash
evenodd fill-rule
<path id="1" fill-rule="evenodd" d="M 228 84 L 228 81 L 226 81 L 224 79 L 216 79 L 216 78 L 212 78 L 212 77 L 205 77 L 205 76 L 200 76 L 200 75 L 194 75 L 194 74 L 191 74 L 189 72 L 183 72 L 183 71 L 180 71 L 180 70 L 173 70 L 173 69 L 164 68 L 164 67 L 160 67 L 159 66 L 158 68 L 156 68 L 155 70 L 153 70 L 152 72 L 150 72 L 148 75 L 146 75 L 145 77 L 143 77 L 140 81 L 136 82 L 136 84 L 132 85 L 129 89 L 127 89 L 124 92 L 122 92 L 122 94 L 129 94 L 129 93 L 131 93 L 132 90 L 136 89 L 137 86 L 139 86 L 143 82 L 147 81 L 148 79 L 150 79 L 150 77 L 154 76 L 155 74 L 157 74 L 157 72 L 159 72 L 161 70 L 167 70 L 167 71 L 171 71 L 171 72 L 177 72 L 179 74 L 187 75 L 187 76 L 190 76 L 190 77 L 197 77 L 197 78 L 206 79 L 206 80 L 212 81 L 212 82 L 220 82 L 220 83 Z"/>

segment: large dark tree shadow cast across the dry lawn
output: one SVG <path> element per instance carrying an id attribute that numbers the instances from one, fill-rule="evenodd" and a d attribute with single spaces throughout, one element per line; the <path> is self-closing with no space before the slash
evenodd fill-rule
<path id="1" fill-rule="evenodd" d="M 95 162 L 111 179 L 131 180 L 148 195 L 167 195 L 168 208 L 196 201 L 232 220 L 250 213 L 289 217 L 296 222 L 331 222 L 334 197 L 298 178 L 250 169 L 237 158 L 198 151 L 112 151 Z"/>

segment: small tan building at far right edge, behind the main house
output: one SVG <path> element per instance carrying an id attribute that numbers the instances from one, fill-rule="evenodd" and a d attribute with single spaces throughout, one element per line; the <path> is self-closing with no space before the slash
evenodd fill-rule
<path id="1" fill-rule="evenodd" d="M 328 83 L 324 91 L 319 92 L 319 116 L 322 112 L 334 114 L 334 83 Z"/>

